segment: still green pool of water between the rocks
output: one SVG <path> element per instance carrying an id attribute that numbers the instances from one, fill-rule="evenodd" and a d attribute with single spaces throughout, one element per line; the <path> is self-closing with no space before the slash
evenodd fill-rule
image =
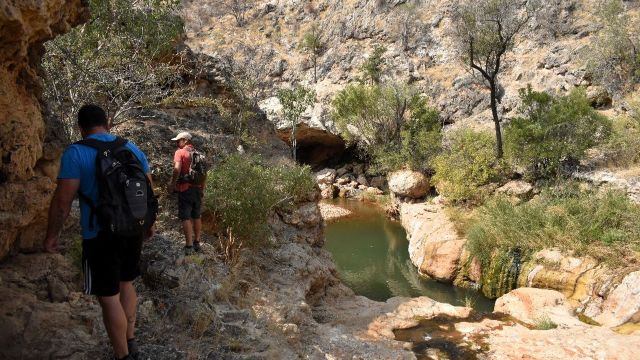
<path id="1" fill-rule="evenodd" d="M 399 223 L 388 220 L 375 205 L 354 200 L 334 200 L 353 216 L 327 224 L 325 248 L 342 280 L 358 295 L 384 301 L 394 296 L 428 296 L 457 306 L 472 305 L 490 312 L 494 302 L 471 289 L 425 278 L 409 259 L 409 242 Z"/>

